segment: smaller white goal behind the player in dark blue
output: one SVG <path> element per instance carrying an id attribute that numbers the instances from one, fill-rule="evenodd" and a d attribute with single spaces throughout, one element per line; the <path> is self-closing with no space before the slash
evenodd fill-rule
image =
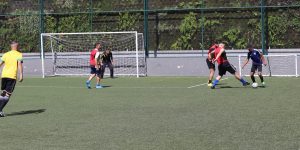
<path id="1" fill-rule="evenodd" d="M 251 70 L 251 60 L 244 69 L 241 66 L 247 56 L 239 55 L 239 70 L 240 75 L 249 75 Z M 298 77 L 298 55 L 265 55 L 267 62 L 266 66 L 263 66 L 264 76 L 295 76 Z"/>

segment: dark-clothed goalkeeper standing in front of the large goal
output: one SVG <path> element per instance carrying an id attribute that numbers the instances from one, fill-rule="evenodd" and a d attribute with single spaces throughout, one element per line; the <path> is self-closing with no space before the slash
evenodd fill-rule
<path id="1" fill-rule="evenodd" d="M 102 55 L 102 74 L 101 78 L 103 79 L 103 75 L 105 72 L 105 68 L 108 67 L 110 70 L 110 78 L 114 78 L 114 65 L 113 65 L 113 56 L 110 49 L 106 49 Z"/>

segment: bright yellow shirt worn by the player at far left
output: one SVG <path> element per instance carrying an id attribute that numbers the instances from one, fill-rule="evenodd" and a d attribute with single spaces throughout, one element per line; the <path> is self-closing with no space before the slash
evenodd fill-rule
<path id="1" fill-rule="evenodd" d="M 22 53 L 11 50 L 4 53 L 1 60 L 4 62 L 2 78 L 17 79 L 18 61 L 23 61 Z"/>

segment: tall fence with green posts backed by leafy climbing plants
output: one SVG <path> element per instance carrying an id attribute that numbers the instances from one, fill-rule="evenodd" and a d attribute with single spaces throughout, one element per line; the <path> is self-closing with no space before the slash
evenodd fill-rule
<path id="1" fill-rule="evenodd" d="M 0 47 L 39 52 L 40 33 L 138 31 L 146 50 L 300 48 L 299 0 L 1 0 Z M 92 44 L 92 43 L 91 43 Z"/>

